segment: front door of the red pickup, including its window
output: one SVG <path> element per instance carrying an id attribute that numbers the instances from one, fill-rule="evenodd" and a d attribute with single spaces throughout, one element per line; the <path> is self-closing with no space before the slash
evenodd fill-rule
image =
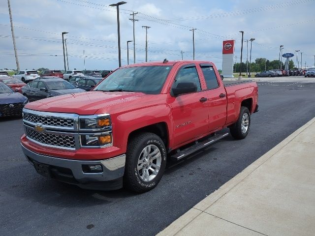
<path id="1" fill-rule="evenodd" d="M 186 143 L 208 131 L 208 94 L 204 84 L 200 83 L 195 64 L 181 67 L 177 72 L 171 88 L 178 83 L 190 82 L 197 87 L 196 92 L 170 96 L 169 103 L 173 116 L 173 147 Z"/>

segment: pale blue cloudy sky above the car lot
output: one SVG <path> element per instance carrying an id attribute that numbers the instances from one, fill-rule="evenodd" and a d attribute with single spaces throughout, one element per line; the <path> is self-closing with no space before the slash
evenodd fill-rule
<path id="1" fill-rule="evenodd" d="M 222 41 L 235 40 L 240 61 L 242 35 L 252 42 L 252 61 L 279 59 L 296 52 L 300 65 L 315 63 L 315 0 L 126 0 L 120 6 L 122 65 L 127 64 L 127 40 L 133 40 L 135 15 L 136 62 L 195 59 L 222 63 Z M 116 7 L 111 0 L 10 0 L 20 69 L 63 69 L 62 32 L 65 34 L 69 69 L 112 70 L 118 63 Z M 250 59 L 244 42 L 243 61 Z M 84 52 L 83 52 L 84 51 Z M 248 52 L 248 53 L 247 53 Z M 57 55 L 57 56 L 56 56 Z M 248 55 L 248 56 L 247 56 Z M 234 59 L 235 60 L 235 59 Z M 133 42 L 129 43 L 133 63 Z M 0 68 L 16 69 L 7 0 L 0 0 Z"/>

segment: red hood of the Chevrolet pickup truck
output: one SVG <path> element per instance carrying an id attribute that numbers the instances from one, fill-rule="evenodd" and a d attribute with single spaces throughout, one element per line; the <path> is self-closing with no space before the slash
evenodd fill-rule
<path id="1" fill-rule="evenodd" d="M 94 115 L 99 109 L 106 108 L 106 112 L 110 113 L 110 107 L 117 107 L 114 105 L 122 107 L 122 103 L 143 99 L 146 96 L 152 95 L 141 92 L 90 91 L 41 99 L 28 103 L 25 108 L 43 112 Z M 124 107 L 126 108 L 126 105 Z"/>

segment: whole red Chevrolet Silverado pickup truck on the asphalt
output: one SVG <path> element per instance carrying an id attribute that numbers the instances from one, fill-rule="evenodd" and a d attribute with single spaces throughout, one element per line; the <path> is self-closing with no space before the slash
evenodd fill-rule
<path id="1" fill-rule="evenodd" d="M 228 135 L 217 131 L 229 127 L 234 138 L 245 138 L 257 96 L 252 81 L 223 85 L 208 61 L 128 65 L 93 91 L 28 103 L 21 145 L 43 176 L 145 192 L 158 184 L 167 159 Z"/>

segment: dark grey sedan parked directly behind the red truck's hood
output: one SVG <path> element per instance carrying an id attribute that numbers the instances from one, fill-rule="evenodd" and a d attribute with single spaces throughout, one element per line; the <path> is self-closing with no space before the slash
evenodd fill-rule
<path id="1" fill-rule="evenodd" d="M 34 80 L 22 88 L 23 95 L 30 101 L 76 92 L 85 92 L 85 90 L 78 89 L 63 79 Z"/>

